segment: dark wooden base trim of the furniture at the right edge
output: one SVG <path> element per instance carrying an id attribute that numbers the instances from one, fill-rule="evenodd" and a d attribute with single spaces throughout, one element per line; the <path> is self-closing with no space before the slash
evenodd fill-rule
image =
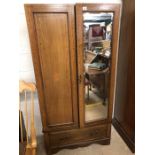
<path id="1" fill-rule="evenodd" d="M 134 153 L 135 152 L 135 143 L 130 139 L 128 134 L 125 132 L 124 128 L 121 127 L 120 123 L 117 121 L 116 118 L 112 119 L 112 124 L 117 132 L 120 134 L 124 142 L 128 145 L 130 150 Z"/>

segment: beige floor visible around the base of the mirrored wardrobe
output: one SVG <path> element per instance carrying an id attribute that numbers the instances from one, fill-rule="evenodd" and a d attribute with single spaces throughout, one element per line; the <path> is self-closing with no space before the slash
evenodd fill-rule
<path id="1" fill-rule="evenodd" d="M 42 136 L 38 137 L 37 155 L 46 155 L 43 146 Z M 134 155 L 126 146 L 124 141 L 112 127 L 112 138 L 110 145 L 92 144 L 87 147 L 77 149 L 63 149 L 55 155 Z"/>

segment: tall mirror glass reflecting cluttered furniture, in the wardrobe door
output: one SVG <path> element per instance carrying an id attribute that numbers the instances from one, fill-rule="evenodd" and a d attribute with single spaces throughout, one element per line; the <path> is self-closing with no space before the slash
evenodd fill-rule
<path id="1" fill-rule="evenodd" d="M 85 121 L 108 115 L 113 13 L 83 13 Z"/>

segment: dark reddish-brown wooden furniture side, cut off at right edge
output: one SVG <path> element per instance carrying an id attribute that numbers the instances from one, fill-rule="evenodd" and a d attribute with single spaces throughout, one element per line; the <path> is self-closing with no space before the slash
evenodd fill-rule
<path id="1" fill-rule="evenodd" d="M 135 152 L 135 1 L 124 0 L 113 125 Z"/>

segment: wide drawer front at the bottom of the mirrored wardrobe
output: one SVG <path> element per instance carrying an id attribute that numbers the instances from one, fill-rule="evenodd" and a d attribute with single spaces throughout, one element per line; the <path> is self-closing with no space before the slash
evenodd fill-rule
<path id="1" fill-rule="evenodd" d="M 51 133 L 50 144 L 52 147 L 64 146 L 107 138 L 107 126 L 75 129 L 66 132 Z"/>

